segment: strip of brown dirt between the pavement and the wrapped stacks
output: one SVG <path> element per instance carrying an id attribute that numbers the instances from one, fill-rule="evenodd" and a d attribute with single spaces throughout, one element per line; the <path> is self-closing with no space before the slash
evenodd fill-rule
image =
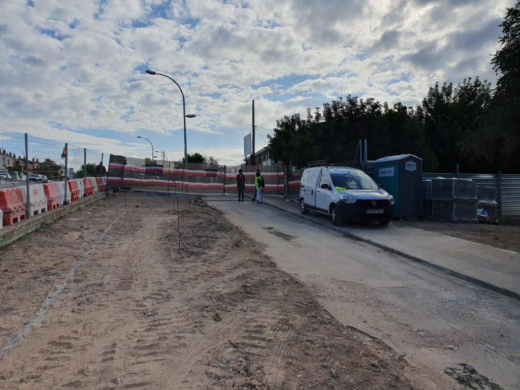
<path id="1" fill-rule="evenodd" d="M 395 226 L 434 231 L 447 236 L 520 252 L 520 226 L 450 224 L 426 220 L 417 222 L 392 221 L 392 223 Z"/>

